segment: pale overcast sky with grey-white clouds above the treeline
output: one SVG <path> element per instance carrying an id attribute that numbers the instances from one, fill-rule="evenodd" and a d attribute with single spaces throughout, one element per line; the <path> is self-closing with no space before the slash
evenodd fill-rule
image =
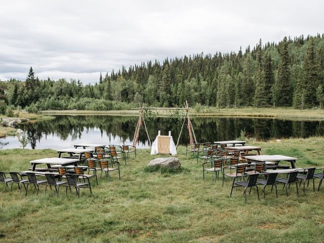
<path id="1" fill-rule="evenodd" d="M 2 1 L 0 79 L 99 73 L 324 32 L 324 1 Z"/>

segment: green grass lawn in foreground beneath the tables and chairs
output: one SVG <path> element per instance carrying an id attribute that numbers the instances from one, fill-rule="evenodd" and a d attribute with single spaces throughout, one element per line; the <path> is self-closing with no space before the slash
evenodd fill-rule
<path id="1" fill-rule="evenodd" d="M 324 138 L 287 139 L 259 145 L 263 154 L 295 156 L 297 167 L 324 167 Z M 148 149 L 131 154 L 121 164 L 121 180 L 111 173 L 99 179 L 93 194 L 84 189 L 80 198 L 61 188 L 37 196 L 4 192 L 0 185 L 0 242 L 323 242 L 324 186 L 311 187 L 287 197 L 278 187 L 278 198 L 267 190 L 259 201 L 256 191 L 245 204 L 242 190 L 233 192 L 231 182 L 214 184 L 213 174 L 205 181 L 201 165 L 185 148 L 178 148 L 179 173 L 145 172 L 155 155 Z M 0 150 L 1 171 L 23 171 L 29 160 L 57 156 L 54 150 Z M 315 187 L 318 186 L 318 180 Z"/>

